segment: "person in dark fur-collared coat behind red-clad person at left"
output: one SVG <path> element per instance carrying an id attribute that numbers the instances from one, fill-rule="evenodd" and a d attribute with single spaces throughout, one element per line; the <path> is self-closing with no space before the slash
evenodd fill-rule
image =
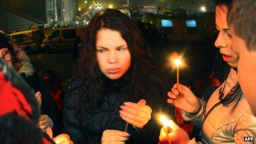
<path id="1" fill-rule="evenodd" d="M 44 84 L 40 81 L 38 74 L 35 72 L 29 57 L 19 47 L 12 43 L 9 44 L 8 39 L 0 33 L 0 57 L 7 63 L 12 65 L 15 70 L 25 79 L 31 88 L 33 88 L 35 96 L 41 98 L 41 113 L 39 126 L 42 131 L 46 131 L 47 127 L 53 128 L 54 136 L 60 133 L 57 123 L 57 106 L 54 99 L 50 96 Z M 55 126 L 54 126 L 55 125 Z"/>

